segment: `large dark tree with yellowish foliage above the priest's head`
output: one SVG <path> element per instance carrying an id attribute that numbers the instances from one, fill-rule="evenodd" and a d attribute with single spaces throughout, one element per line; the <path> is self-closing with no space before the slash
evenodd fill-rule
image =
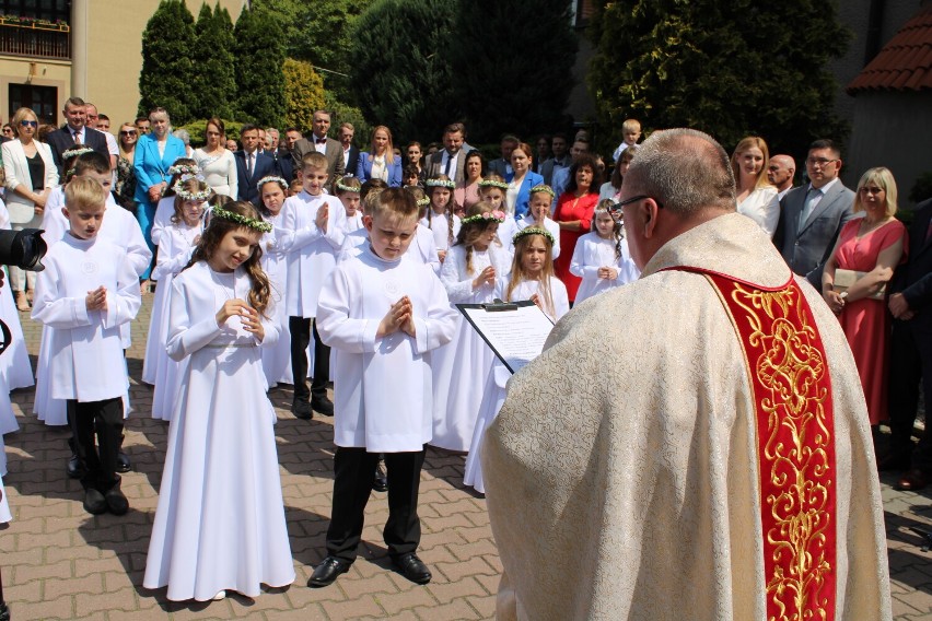
<path id="1" fill-rule="evenodd" d="M 850 36 L 836 4 L 601 0 L 589 72 L 607 138 L 599 147 L 614 149 L 629 117 L 646 130 L 701 129 L 726 150 L 747 134 L 767 140 L 771 153 L 794 154 L 816 137 L 843 139 L 826 69 Z"/>

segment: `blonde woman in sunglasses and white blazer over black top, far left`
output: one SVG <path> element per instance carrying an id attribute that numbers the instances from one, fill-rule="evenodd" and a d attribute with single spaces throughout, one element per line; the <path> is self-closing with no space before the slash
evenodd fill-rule
<path id="1" fill-rule="evenodd" d="M 35 140 L 38 119 L 33 110 L 18 109 L 10 122 L 18 133 L 18 138 L 2 145 L 10 222 L 13 231 L 38 229 L 45 201 L 58 185 L 58 168 L 51 159 L 51 148 Z M 35 279 L 35 272 L 10 266 L 10 280 L 20 310 L 30 309 Z"/>

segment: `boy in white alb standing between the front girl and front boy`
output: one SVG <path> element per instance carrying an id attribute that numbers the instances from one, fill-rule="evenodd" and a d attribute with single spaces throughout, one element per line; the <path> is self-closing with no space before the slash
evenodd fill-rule
<path id="1" fill-rule="evenodd" d="M 343 206 L 337 197 L 324 194 L 327 157 L 316 151 L 301 161 L 302 187 L 282 207 L 282 235 L 279 249 L 288 254 L 288 289 L 284 305 L 291 331 L 291 372 L 294 377 L 292 413 L 310 419 L 312 410 L 331 417 L 334 403 L 327 398 L 330 380 L 330 348 L 317 335 L 317 297 L 321 285 L 337 265 L 343 234 Z M 341 216 L 341 214 L 343 214 Z M 314 333 L 314 375 L 307 390 L 307 344 Z"/>

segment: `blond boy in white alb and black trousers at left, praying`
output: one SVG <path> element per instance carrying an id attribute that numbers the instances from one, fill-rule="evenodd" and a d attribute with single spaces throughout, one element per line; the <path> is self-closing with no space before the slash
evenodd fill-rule
<path id="1" fill-rule="evenodd" d="M 126 250 L 97 236 L 106 199 L 95 179 L 68 184 L 62 213 L 70 230 L 46 256 L 32 316 L 55 328 L 49 386 L 53 398 L 67 399 L 83 466 L 84 509 L 123 515 L 129 503 L 116 468 L 129 378 L 120 326 L 136 318 L 142 300 Z"/>

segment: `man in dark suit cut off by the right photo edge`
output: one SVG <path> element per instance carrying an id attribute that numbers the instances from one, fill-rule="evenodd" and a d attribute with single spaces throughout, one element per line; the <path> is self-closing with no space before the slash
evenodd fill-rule
<path id="1" fill-rule="evenodd" d="M 889 351 L 890 448 L 879 470 L 907 470 L 898 490 L 921 490 L 932 481 L 932 199 L 919 203 L 909 227 L 909 256 L 888 288 L 894 316 Z M 925 397 L 925 431 L 912 452 L 919 387 Z M 910 453 L 912 453 L 910 457 Z"/>

